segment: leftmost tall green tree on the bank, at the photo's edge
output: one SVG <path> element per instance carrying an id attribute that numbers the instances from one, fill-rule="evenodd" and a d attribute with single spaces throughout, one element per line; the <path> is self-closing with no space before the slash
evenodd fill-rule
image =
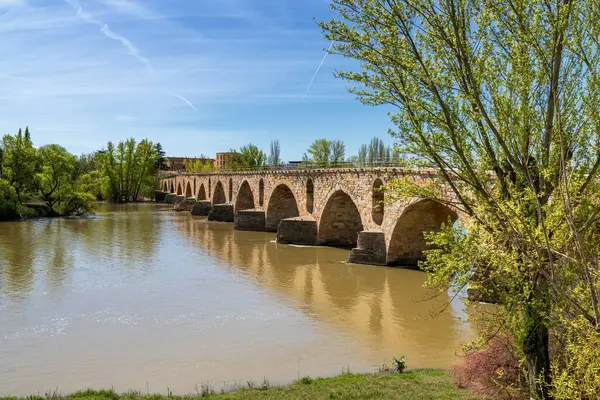
<path id="1" fill-rule="evenodd" d="M 31 188 L 36 168 L 36 151 L 29 137 L 24 137 L 21 129 L 15 136 L 5 135 L 2 173 L 14 188 L 19 203 L 23 203 L 23 193 Z"/>

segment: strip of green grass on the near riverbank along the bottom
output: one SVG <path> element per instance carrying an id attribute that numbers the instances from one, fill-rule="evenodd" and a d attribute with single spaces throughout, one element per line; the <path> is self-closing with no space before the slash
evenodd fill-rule
<path id="1" fill-rule="evenodd" d="M 253 386 L 249 384 L 248 386 Z M 230 393 L 212 394 L 210 388 L 198 388 L 196 395 L 163 396 L 127 393 L 119 395 L 113 391 L 86 391 L 69 396 L 50 395 L 28 397 L 27 400 L 194 400 L 209 398 L 215 400 L 246 399 L 406 399 L 406 400 L 473 400 L 468 392 L 457 389 L 446 371 L 417 370 L 403 374 L 342 374 L 333 378 L 303 378 L 291 385 L 269 387 L 258 383 L 256 388 L 239 389 Z M 17 398 L 0 398 L 16 400 Z M 25 398 L 19 399 L 25 400 Z"/>

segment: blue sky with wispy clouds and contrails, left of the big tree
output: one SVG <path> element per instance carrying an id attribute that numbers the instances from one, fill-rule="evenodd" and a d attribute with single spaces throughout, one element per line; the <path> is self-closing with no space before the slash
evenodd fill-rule
<path id="1" fill-rule="evenodd" d="M 379 136 L 329 56 L 315 20 L 325 0 L 0 0 L 0 132 L 29 125 L 36 145 L 91 152 L 126 137 L 168 155 L 214 156 L 281 143 L 300 159 L 317 138 L 347 155 Z"/>

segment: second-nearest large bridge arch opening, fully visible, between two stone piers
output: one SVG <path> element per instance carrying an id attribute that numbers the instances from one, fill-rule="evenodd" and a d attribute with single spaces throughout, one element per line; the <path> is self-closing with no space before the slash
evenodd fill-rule
<path id="1" fill-rule="evenodd" d="M 362 219 L 352 198 L 342 190 L 331 195 L 319 222 L 319 243 L 329 246 L 356 246 Z"/>

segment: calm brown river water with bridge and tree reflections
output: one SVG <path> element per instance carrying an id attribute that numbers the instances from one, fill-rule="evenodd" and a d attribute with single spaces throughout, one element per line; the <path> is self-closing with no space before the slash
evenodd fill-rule
<path id="1" fill-rule="evenodd" d="M 467 314 L 449 295 L 428 300 L 423 272 L 274 240 L 155 205 L 0 223 L 0 395 L 193 393 L 400 355 L 409 368 L 460 362 Z"/>

